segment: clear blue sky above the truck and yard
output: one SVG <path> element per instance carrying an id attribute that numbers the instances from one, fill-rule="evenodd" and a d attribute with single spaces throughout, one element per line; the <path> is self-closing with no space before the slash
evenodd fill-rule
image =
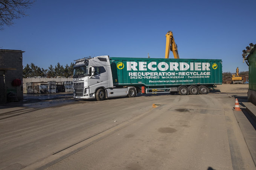
<path id="1" fill-rule="evenodd" d="M 242 50 L 256 43 L 255 1 L 38 0 L 28 17 L 0 31 L 2 49 L 47 69 L 88 56 L 165 57 L 171 30 L 183 59 L 222 59 L 248 71 Z M 170 53 L 170 57 L 173 54 Z"/>

